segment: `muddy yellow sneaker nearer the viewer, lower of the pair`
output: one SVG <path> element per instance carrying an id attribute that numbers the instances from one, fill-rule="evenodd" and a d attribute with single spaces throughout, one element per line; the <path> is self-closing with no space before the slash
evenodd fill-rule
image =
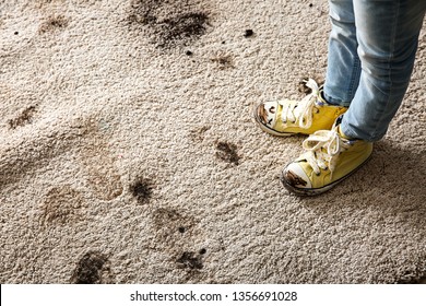
<path id="1" fill-rule="evenodd" d="M 328 191 L 363 166 L 372 152 L 372 143 L 346 139 L 338 125 L 309 136 L 303 146 L 306 152 L 281 176 L 284 187 L 299 196 Z"/>

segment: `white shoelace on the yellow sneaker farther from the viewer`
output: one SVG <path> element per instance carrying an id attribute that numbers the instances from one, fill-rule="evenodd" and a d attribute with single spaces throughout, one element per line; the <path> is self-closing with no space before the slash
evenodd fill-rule
<path id="1" fill-rule="evenodd" d="M 317 82 L 315 82 L 312 79 L 309 79 L 306 82 L 306 86 L 311 89 L 312 92 L 304 97 L 300 102 L 279 102 L 283 106 L 281 120 L 284 123 L 287 121 L 297 123 L 303 129 L 308 129 L 312 125 L 312 111 L 315 103 L 318 99 L 319 87 Z"/>

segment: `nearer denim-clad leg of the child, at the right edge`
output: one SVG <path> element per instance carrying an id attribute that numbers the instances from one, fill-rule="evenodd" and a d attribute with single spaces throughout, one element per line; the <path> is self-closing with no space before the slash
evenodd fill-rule
<path id="1" fill-rule="evenodd" d="M 350 138 L 380 140 L 410 83 L 426 1 L 354 1 L 359 86 L 343 117 Z"/>

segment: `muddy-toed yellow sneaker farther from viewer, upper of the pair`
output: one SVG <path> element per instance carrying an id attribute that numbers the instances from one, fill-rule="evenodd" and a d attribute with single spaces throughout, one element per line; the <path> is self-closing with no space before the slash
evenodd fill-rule
<path id="1" fill-rule="evenodd" d="M 312 92 L 301 101 L 283 99 L 258 105 L 253 115 L 260 128 L 274 136 L 311 134 L 331 129 L 347 108 L 328 104 L 312 79 L 306 85 Z"/>

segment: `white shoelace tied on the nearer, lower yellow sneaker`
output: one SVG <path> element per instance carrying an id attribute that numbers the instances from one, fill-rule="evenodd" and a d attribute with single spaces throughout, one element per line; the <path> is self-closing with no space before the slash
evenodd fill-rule
<path id="1" fill-rule="evenodd" d="M 320 169 L 327 170 L 327 168 L 332 175 L 339 154 L 350 145 L 351 141 L 342 139 L 338 128 L 331 131 L 316 131 L 303 142 L 303 148 L 307 151 L 306 161 L 317 175 L 320 174 Z"/>

